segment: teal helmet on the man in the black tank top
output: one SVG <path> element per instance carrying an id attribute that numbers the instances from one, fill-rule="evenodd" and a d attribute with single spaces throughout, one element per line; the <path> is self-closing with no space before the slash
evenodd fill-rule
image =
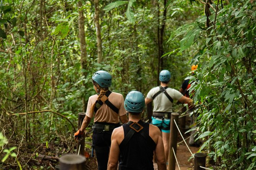
<path id="1" fill-rule="evenodd" d="M 145 99 L 139 91 L 130 91 L 124 100 L 124 108 L 128 112 L 140 113 L 144 110 Z"/>

